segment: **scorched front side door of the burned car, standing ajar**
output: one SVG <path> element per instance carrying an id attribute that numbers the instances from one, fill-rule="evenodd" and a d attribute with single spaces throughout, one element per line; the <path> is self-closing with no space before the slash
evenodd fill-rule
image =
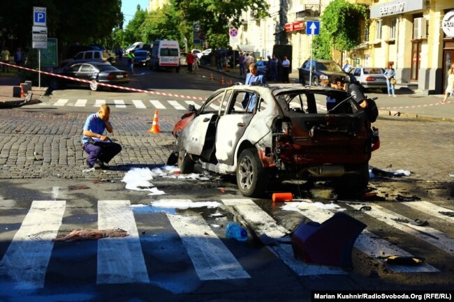
<path id="1" fill-rule="evenodd" d="M 191 123 L 186 126 L 179 138 L 179 149 L 185 149 L 187 153 L 200 156 L 202 151 L 214 148 L 216 126 L 224 100 L 225 91 L 219 91 L 211 96 L 198 111 Z M 209 159 L 209 158 L 208 158 Z"/>

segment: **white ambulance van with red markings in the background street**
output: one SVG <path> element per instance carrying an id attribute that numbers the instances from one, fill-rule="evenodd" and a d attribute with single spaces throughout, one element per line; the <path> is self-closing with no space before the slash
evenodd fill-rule
<path id="1" fill-rule="evenodd" d="M 156 40 L 152 47 L 149 68 L 175 68 L 180 71 L 180 45 L 174 40 Z"/>

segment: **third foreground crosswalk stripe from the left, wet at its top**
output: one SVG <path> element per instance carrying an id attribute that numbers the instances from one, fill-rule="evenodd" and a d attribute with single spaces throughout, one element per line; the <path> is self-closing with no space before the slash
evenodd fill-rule
<path id="1" fill-rule="evenodd" d="M 200 280 L 251 278 L 201 216 L 167 214 Z"/>

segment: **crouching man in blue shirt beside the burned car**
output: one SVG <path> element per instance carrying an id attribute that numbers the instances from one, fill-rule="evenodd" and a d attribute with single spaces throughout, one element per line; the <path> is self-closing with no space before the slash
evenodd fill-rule
<path id="1" fill-rule="evenodd" d="M 108 133 L 113 132 L 109 118 L 109 106 L 102 105 L 97 113 L 90 114 L 85 121 L 82 144 L 84 151 L 88 153 L 87 167 L 89 169 L 93 168 L 96 163 L 105 169 L 107 163 L 122 151 L 122 146 L 111 142 L 109 137 L 103 135 L 104 130 L 107 130 Z"/>

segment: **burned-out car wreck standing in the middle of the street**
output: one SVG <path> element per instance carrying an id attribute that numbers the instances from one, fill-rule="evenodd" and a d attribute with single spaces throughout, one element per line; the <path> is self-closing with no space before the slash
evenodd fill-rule
<path id="1" fill-rule="evenodd" d="M 327 110 L 327 100 L 335 105 Z M 240 192 L 263 194 L 269 181 L 332 179 L 342 190 L 369 183 L 378 130 L 345 91 L 298 84 L 235 85 L 215 91 L 173 130 L 182 173 L 196 163 L 236 174 Z"/>

